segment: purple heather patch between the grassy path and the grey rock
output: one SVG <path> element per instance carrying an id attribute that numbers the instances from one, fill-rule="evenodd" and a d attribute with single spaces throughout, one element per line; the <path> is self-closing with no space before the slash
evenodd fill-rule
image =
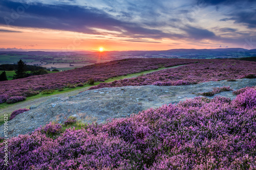
<path id="1" fill-rule="evenodd" d="M 164 69 L 137 78 L 100 83 L 91 89 L 121 86 L 179 86 L 208 81 L 253 78 L 256 75 L 255 63 L 234 60 L 202 60 L 178 68 Z"/>

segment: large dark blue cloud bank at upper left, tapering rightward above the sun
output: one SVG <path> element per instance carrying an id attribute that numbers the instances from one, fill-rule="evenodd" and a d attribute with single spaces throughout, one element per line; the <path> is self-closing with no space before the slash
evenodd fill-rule
<path id="1" fill-rule="evenodd" d="M 123 37 L 132 38 L 154 38 L 181 37 L 163 33 L 160 30 L 143 28 L 139 23 L 130 23 L 115 19 L 110 14 L 96 8 L 71 6 L 71 5 L 46 5 L 32 3 L 24 13 L 12 17 L 12 9 L 16 11 L 20 3 L 3 0 L 0 2 L 0 25 L 6 25 L 6 17 L 11 26 L 45 28 L 82 32 L 86 34 L 102 34 L 96 29 L 120 32 Z M 123 15 L 129 16 L 127 13 Z M 11 20 L 11 21 L 10 21 Z M 111 33 L 110 33 L 111 34 Z M 115 33 L 112 33 L 115 35 Z M 118 34 L 118 35 L 120 35 Z"/>

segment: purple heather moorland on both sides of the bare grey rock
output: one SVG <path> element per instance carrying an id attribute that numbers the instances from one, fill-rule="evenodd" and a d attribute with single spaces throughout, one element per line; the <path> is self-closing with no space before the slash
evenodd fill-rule
<path id="1" fill-rule="evenodd" d="M 168 68 L 178 65 L 181 66 Z M 0 107 L 16 104 L 7 104 L 8 100 L 22 102 L 43 93 L 54 94 L 85 87 L 86 90 L 94 90 L 142 85 L 180 86 L 255 79 L 255 66 L 253 61 L 230 59 L 115 60 L 0 82 Z M 136 77 L 124 79 L 134 74 Z M 233 94 L 236 95 L 233 100 L 216 94 L 211 99 L 198 96 L 144 110 L 130 117 L 110 119 L 103 124 L 83 124 L 75 117 L 63 123 L 52 122 L 38 127 L 31 134 L 9 139 L 8 167 L 4 166 L 5 145 L 1 142 L 0 167 L 255 169 L 256 88 L 238 89 Z"/>

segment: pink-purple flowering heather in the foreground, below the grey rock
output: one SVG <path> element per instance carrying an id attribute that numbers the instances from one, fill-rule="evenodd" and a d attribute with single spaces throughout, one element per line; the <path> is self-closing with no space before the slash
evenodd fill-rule
<path id="1" fill-rule="evenodd" d="M 255 90 L 197 97 L 129 118 L 9 140 L 1 169 L 256 169 Z M 243 109 L 241 109 L 241 107 Z"/>

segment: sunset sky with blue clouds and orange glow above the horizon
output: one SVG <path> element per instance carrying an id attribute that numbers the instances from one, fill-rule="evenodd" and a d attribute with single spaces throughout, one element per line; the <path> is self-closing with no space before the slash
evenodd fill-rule
<path id="1" fill-rule="evenodd" d="M 1 0 L 0 51 L 256 48 L 252 0 Z"/>

